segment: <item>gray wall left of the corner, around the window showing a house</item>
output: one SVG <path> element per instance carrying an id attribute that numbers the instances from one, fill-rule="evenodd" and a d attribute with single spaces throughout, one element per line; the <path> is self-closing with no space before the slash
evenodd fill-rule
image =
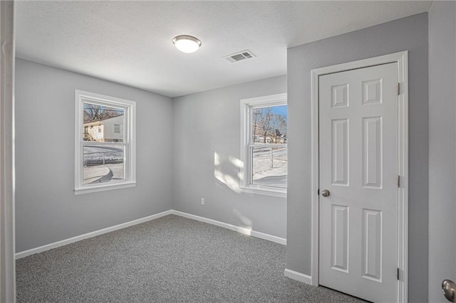
<path id="1" fill-rule="evenodd" d="M 136 101 L 137 186 L 75 196 L 75 89 Z M 16 60 L 16 251 L 172 208 L 172 100 Z"/>

